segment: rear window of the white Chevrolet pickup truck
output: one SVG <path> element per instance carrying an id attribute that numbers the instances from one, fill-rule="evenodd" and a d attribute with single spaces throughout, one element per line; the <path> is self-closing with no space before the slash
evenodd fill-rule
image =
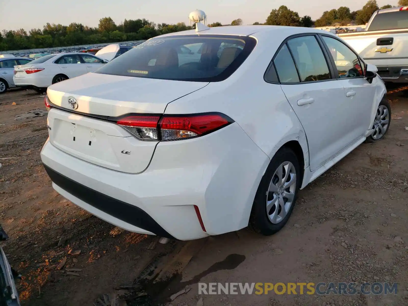
<path id="1" fill-rule="evenodd" d="M 408 28 L 408 11 L 396 11 L 375 15 L 367 31 Z"/>

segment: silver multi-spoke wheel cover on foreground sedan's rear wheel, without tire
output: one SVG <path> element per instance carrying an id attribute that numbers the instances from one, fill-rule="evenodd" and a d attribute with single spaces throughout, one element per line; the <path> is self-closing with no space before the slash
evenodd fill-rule
<path id="1" fill-rule="evenodd" d="M 286 217 L 295 199 L 296 169 L 291 162 L 280 164 L 266 192 L 266 213 L 269 221 L 278 224 Z"/>

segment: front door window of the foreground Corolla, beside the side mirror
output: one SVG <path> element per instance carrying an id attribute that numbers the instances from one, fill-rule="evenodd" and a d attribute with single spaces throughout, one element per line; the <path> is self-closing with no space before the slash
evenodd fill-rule
<path id="1" fill-rule="evenodd" d="M 364 72 L 357 55 L 349 47 L 335 38 L 322 36 L 333 57 L 338 71 L 338 78 L 363 77 Z"/>

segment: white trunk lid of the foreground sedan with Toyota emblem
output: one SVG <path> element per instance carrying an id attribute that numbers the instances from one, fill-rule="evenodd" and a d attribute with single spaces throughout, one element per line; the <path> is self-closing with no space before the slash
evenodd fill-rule
<path id="1" fill-rule="evenodd" d="M 140 173 L 149 165 L 158 141 L 138 140 L 115 120 L 130 113 L 162 114 L 169 102 L 207 84 L 98 73 L 54 84 L 47 90 L 56 106 L 47 120 L 50 142 L 87 162 Z M 70 100 L 70 106 L 69 99 L 76 103 Z"/>

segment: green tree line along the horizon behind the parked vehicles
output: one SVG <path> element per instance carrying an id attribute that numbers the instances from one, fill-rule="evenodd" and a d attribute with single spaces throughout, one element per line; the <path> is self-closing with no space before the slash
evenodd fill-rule
<path id="1" fill-rule="evenodd" d="M 398 5 L 408 6 L 408 0 L 399 0 Z M 392 6 L 378 7 L 376 0 L 369 0 L 358 11 L 350 11 L 348 7 L 339 7 L 338 9 L 324 11 L 319 19 L 313 21 L 310 16 L 300 17 L 299 13 L 282 5 L 278 9 L 273 9 L 264 23 L 254 22 L 253 24 L 293 27 L 346 25 L 352 21 L 357 24 L 365 24 L 377 9 L 386 9 L 388 7 Z M 231 25 L 241 24 L 241 18 L 231 22 Z M 208 26 L 221 27 L 222 23 L 213 22 Z M 122 24 L 117 25 L 110 17 L 101 18 L 98 27 L 88 27 L 76 22 L 72 22 L 68 26 L 47 23 L 43 29 L 31 29 L 28 33 L 24 29 L 17 31 L 3 30 L 0 33 L 0 51 L 145 40 L 157 35 L 188 29 L 192 29 L 192 27 L 187 26 L 184 22 L 155 24 L 146 19 L 125 19 Z"/>

